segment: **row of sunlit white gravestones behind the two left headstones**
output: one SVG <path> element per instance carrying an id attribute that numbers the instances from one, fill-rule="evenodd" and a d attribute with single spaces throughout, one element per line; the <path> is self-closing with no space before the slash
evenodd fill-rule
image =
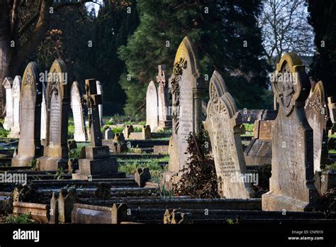
<path id="1" fill-rule="evenodd" d="M 11 130 L 9 138 L 20 137 L 20 104 L 21 102 L 21 76 L 13 79 L 6 77 L 2 85 L 6 90 L 6 117 L 4 119 L 4 128 Z M 41 123 L 40 123 L 40 139 L 45 140 L 46 137 L 46 101 L 45 101 L 45 83 L 42 82 L 42 103 L 41 103 Z M 98 94 L 103 94 L 101 83 L 96 81 Z M 82 93 L 79 84 L 74 82 L 71 89 L 71 108 L 74 116 L 74 140 L 87 141 L 84 107 L 82 105 Z M 103 124 L 103 105 L 99 105 L 99 119 Z"/>

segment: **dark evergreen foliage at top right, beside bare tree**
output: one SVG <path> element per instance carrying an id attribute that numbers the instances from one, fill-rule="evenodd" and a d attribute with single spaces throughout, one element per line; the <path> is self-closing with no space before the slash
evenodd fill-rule
<path id="1" fill-rule="evenodd" d="M 328 97 L 336 97 L 336 1 L 310 0 L 308 11 L 308 21 L 315 31 L 317 49 L 309 75 L 316 82 L 323 80 Z"/>

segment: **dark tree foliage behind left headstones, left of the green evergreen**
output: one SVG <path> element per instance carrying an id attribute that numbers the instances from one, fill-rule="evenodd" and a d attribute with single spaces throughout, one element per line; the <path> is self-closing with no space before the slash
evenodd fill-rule
<path id="1" fill-rule="evenodd" d="M 103 86 L 104 114 L 121 113 L 125 94 L 119 78 L 125 64 L 117 50 L 138 23 L 135 0 L 104 0 L 97 16 L 85 8 L 67 7 L 52 16 L 50 31 L 38 48 L 38 62 L 48 70 L 53 60 L 62 58 L 70 82 L 77 80 L 82 89 L 85 79 L 98 79 Z"/>

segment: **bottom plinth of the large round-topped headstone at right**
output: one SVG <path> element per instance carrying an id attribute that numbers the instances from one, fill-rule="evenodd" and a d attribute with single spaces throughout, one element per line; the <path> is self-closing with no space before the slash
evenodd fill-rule
<path id="1" fill-rule="evenodd" d="M 317 208 L 313 202 L 304 202 L 283 194 L 267 192 L 262 195 L 262 211 L 311 212 Z"/>

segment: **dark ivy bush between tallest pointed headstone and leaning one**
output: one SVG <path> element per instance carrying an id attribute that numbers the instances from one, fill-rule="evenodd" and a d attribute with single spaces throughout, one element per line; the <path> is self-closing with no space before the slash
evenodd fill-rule
<path id="1" fill-rule="evenodd" d="M 190 154 L 186 167 L 181 170 L 181 180 L 173 185 L 179 195 L 195 198 L 219 198 L 219 180 L 215 172 L 215 163 L 209 148 L 208 132 L 201 126 L 198 134 L 190 133 L 186 153 Z"/>

